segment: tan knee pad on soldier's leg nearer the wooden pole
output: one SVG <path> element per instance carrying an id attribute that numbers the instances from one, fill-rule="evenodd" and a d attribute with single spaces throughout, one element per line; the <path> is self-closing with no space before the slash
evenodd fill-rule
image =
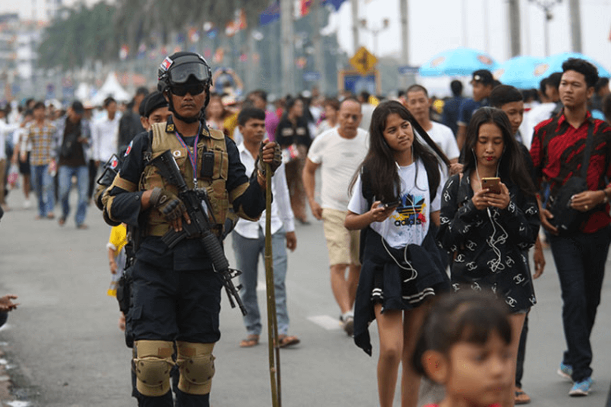
<path id="1" fill-rule="evenodd" d="M 177 365 L 180 370 L 178 389 L 187 394 L 208 394 L 214 376 L 214 344 L 178 341 Z"/>

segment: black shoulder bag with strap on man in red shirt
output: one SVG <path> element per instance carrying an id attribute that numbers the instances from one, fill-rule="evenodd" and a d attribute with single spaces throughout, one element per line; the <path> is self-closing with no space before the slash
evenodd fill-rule
<path id="1" fill-rule="evenodd" d="M 588 136 L 585 139 L 584 161 L 579 174 L 571 176 L 565 184 L 560 187 L 558 194 L 552 201 L 550 212 L 554 215 L 551 223 L 558 228 L 561 234 L 570 234 L 579 230 L 579 226 L 588 218 L 590 212 L 580 212 L 571 207 L 571 198 L 577 193 L 588 190 L 588 167 L 594 144 L 594 124 L 588 126 Z"/>

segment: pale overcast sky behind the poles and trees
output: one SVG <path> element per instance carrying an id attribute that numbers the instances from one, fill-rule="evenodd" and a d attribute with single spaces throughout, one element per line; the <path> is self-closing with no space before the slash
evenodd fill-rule
<path id="1" fill-rule="evenodd" d="M 32 17 L 33 5 L 42 7 L 48 0 L 0 0 L 0 12 L 19 12 L 23 18 Z M 383 18 L 389 18 L 389 28 L 379 34 L 378 52 L 382 56 L 399 55 L 400 0 L 360 0 L 360 18 L 367 18 L 371 27 L 379 27 Z M 402 0 L 401 0 L 402 1 Z M 64 0 L 73 4 L 76 0 Z M 95 1 L 87 0 L 88 4 Z M 466 10 L 466 19 L 463 18 Z M 522 54 L 544 56 L 543 11 L 529 0 L 520 0 L 522 26 Z M 550 23 L 550 51 L 571 51 L 571 31 L 568 19 L 568 0 L 553 9 Z M 38 17 L 43 15 L 38 11 Z M 598 60 L 611 70 L 611 0 L 581 0 L 582 41 L 585 54 Z M 488 24 L 485 21 L 488 20 Z M 340 45 L 352 50 L 351 10 L 346 1 L 335 19 Z M 507 0 L 410 0 L 409 1 L 409 61 L 422 65 L 437 52 L 456 46 L 469 46 L 487 51 L 497 61 L 510 57 L 507 32 Z M 466 43 L 464 30 L 466 29 Z M 488 35 L 486 35 L 486 32 Z M 488 38 L 486 40 L 486 38 Z M 360 43 L 374 51 L 373 37 L 360 31 Z"/>

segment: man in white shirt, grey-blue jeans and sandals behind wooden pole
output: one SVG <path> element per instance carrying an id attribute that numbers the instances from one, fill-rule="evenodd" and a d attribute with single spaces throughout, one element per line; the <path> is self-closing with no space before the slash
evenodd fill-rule
<path id="1" fill-rule="evenodd" d="M 244 140 L 238 146 L 240 160 L 246 173 L 251 174 L 263 137 L 265 137 L 265 110 L 256 107 L 245 107 L 238 115 L 238 126 Z M 299 343 L 296 336 L 288 335 L 287 292 L 285 278 L 287 276 L 287 250 L 297 247 L 295 236 L 295 217 L 291 210 L 288 194 L 287 178 L 284 164 L 280 165 L 272 178 L 271 204 L 272 250 L 274 253 L 274 290 L 276 292 L 276 314 L 278 318 L 278 342 L 280 347 Z M 240 347 L 249 348 L 258 344 L 261 334 L 261 315 L 257 302 L 257 270 L 258 256 L 265 263 L 265 218 L 263 211 L 260 220 L 251 222 L 238 220 L 232 232 L 233 252 L 235 253 L 238 270 L 241 270 L 241 298 L 248 312 L 244 316 L 244 325 L 248 336 L 240 342 Z"/>

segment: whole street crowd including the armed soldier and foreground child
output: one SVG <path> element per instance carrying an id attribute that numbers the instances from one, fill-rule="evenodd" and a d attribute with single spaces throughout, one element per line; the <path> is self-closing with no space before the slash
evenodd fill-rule
<path id="1" fill-rule="evenodd" d="M 309 206 L 323 222 L 339 323 L 369 355 L 368 327 L 374 320 L 378 325 L 382 407 L 392 406 L 400 365 L 403 406 L 417 405 L 422 376 L 445 387 L 445 401 L 436 400 L 442 404 L 529 403 L 521 379 L 528 315 L 536 304 L 533 280 L 543 273 L 546 247 L 562 289 L 566 351 L 558 374 L 572 381 L 569 395 L 588 395 L 590 334 L 611 243 L 611 92 L 593 65 L 569 59 L 562 72 L 527 91 L 478 70 L 472 74 L 473 97 L 464 97 L 463 84 L 452 81 L 453 96 L 439 110 L 420 84 L 393 97 L 326 97 L 313 89 L 271 101 L 264 90 L 243 99 L 208 93 L 209 73 L 190 68 L 180 80 L 170 74 L 181 63 L 207 67 L 197 58 L 180 52 L 168 57 L 160 68 L 161 92 L 139 88 L 126 105 L 109 97 L 101 107 L 73 101 L 62 110 L 57 103 L 29 100 L 19 112 L 0 110 L 4 211 L 10 209 L 5 189 L 19 171 L 23 206 L 31 205 L 31 189 L 37 219 L 53 219 L 60 203 L 61 226 L 76 184 L 75 223 L 85 229 L 95 181 L 117 166 L 113 159 L 123 161 L 95 200 L 106 222 L 115 225 L 107 246 L 115 276 L 128 263 L 130 226 L 147 225 L 134 254 L 139 314 L 122 314 L 119 322 L 124 330 L 134 324 L 134 361 L 142 363 L 142 372 L 134 372 L 139 400 L 171 395 L 165 378 L 159 386 L 145 380 L 163 376 L 155 363 L 164 361 L 180 366 L 177 400 L 199 405 L 189 403 L 210 392 L 211 351 L 219 337 L 220 283 L 207 273 L 188 274 L 209 268 L 210 259 L 197 254 L 193 240 L 176 247 L 163 240 L 191 223 L 178 190 L 149 169 L 163 149 L 172 151 L 192 188 L 208 191 L 213 204 L 207 212 L 217 222 L 217 236 L 232 235 L 247 311 L 240 347 L 257 345 L 262 331 L 257 273 L 266 216 L 272 224 L 277 346 L 300 342 L 289 332 L 285 279 L 287 249 L 295 250 L 298 240 L 295 219 L 307 227 Z M 274 171 L 270 214 L 262 204 L 263 161 Z M 235 228 L 223 222 L 230 212 L 241 217 Z M 189 291 L 167 270 L 205 288 Z M 189 319 L 159 323 L 156 318 L 172 320 L 178 312 L 174 305 L 160 310 L 153 303 L 167 298 L 192 309 Z M 197 330 L 196 319 L 210 320 L 210 326 Z M 468 351 L 478 355 L 470 373 L 455 365 L 456 358 L 472 363 Z M 183 369 L 196 358 L 206 380 Z"/>

